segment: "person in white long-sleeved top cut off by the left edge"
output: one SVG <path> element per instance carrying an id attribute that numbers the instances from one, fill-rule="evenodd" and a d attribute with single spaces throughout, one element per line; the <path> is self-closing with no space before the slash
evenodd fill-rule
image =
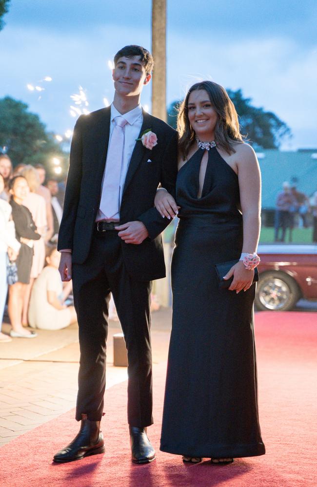
<path id="1" fill-rule="evenodd" d="M 4 189 L 4 180 L 0 174 L 0 193 Z M 11 341 L 12 338 L 1 332 L 5 300 L 7 297 L 7 262 L 14 261 L 20 250 L 20 242 L 16 239 L 16 230 L 12 220 L 12 208 L 0 198 L 0 343 Z"/>

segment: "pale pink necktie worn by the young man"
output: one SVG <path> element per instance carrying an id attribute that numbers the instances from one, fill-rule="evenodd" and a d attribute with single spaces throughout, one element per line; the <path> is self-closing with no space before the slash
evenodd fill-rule
<path id="1" fill-rule="evenodd" d="M 117 116 L 108 147 L 106 169 L 103 178 L 100 210 L 106 218 L 113 218 L 120 207 L 120 175 L 124 145 L 125 118 Z"/>

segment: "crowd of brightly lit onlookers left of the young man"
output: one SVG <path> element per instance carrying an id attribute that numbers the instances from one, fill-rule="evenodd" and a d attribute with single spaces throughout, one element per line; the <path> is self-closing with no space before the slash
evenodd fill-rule
<path id="1" fill-rule="evenodd" d="M 76 321 L 72 284 L 63 284 L 58 271 L 64 185 L 48 178 L 44 186 L 45 176 L 40 164 L 13 169 L 0 154 L 0 342 Z M 1 332 L 6 301 L 10 336 Z"/>

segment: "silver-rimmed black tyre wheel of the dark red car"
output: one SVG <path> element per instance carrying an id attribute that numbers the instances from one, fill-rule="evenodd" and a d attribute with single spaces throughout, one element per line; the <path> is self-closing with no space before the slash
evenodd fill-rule
<path id="1" fill-rule="evenodd" d="M 255 305 L 260 311 L 288 311 L 300 298 L 296 281 L 284 272 L 266 272 L 259 278 Z"/>

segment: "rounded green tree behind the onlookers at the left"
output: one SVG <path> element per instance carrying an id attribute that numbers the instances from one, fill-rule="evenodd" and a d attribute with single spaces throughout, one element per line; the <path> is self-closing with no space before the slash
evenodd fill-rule
<path id="1" fill-rule="evenodd" d="M 0 99 L 0 147 L 12 160 L 20 163 L 41 163 L 48 167 L 54 156 L 63 157 L 54 134 L 45 131 L 39 115 L 28 112 L 28 106 L 10 96 Z"/>

